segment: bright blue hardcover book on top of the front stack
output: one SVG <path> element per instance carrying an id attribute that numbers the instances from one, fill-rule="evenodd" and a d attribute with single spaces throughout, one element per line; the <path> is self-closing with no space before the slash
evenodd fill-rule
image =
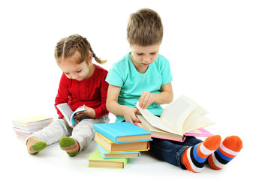
<path id="1" fill-rule="evenodd" d="M 151 132 L 130 122 L 94 124 L 95 132 L 118 143 L 151 141 Z"/>

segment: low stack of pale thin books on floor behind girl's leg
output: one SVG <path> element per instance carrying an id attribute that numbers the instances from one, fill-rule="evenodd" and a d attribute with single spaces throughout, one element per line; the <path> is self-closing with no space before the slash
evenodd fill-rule
<path id="1" fill-rule="evenodd" d="M 52 121 L 53 118 L 45 116 L 22 118 L 18 120 L 13 120 L 13 127 L 17 136 L 26 137 L 34 133 L 35 131 L 47 127 Z"/>

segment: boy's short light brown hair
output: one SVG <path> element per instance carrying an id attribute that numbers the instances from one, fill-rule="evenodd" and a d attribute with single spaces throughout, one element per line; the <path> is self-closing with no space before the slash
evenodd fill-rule
<path id="1" fill-rule="evenodd" d="M 149 46 L 161 43 L 163 31 L 161 17 L 155 10 L 140 9 L 129 17 L 127 37 L 130 45 Z"/>

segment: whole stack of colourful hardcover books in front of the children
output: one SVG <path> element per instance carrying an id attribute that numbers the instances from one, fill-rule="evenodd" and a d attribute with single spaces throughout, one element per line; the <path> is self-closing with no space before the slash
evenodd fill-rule
<path id="1" fill-rule="evenodd" d="M 129 158 L 149 150 L 151 132 L 129 122 L 95 124 L 98 149 L 88 158 L 89 167 L 124 168 Z"/>

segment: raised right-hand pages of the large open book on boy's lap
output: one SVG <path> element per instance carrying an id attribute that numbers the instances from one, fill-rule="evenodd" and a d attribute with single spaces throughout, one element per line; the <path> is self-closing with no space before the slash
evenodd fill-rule
<path id="1" fill-rule="evenodd" d="M 183 124 L 185 119 L 190 115 L 198 104 L 192 101 L 190 98 L 182 95 L 176 101 L 173 101 L 167 107 L 164 108 L 161 113 L 161 118 L 169 124 L 169 126 L 175 128 L 179 133 L 183 134 Z"/>

